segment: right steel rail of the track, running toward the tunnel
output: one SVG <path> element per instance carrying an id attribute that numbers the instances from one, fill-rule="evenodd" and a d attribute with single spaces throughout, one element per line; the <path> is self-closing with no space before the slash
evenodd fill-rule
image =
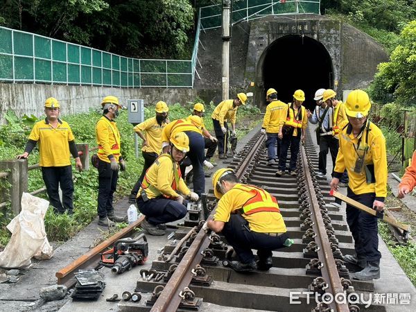
<path id="1" fill-rule="evenodd" d="M 300 153 L 302 157 L 302 168 L 305 176 L 306 189 L 309 193 L 309 200 L 311 201 L 311 219 L 313 220 L 312 228 L 315 234 L 317 234 L 315 236 L 315 243 L 319 247 L 317 251 L 318 259 L 323 265 L 321 273 L 328 285 L 327 293 L 331 293 L 335 298 L 338 293 L 344 293 L 344 288 L 341 284 L 340 276 L 338 275 L 335 259 L 333 258 L 331 245 L 329 243 L 324 220 L 318 204 L 318 198 L 316 197 L 313 187 L 311 172 L 309 171 L 309 165 L 306 160 L 306 150 L 304 146 L 300 148 Z M 339 300 L 332 300 L 329 307 L 333 309 L 333 311 L 349 312 L 348 304 L 346 302 L 343 303 L 342 301 L 339 302 Z"/>

